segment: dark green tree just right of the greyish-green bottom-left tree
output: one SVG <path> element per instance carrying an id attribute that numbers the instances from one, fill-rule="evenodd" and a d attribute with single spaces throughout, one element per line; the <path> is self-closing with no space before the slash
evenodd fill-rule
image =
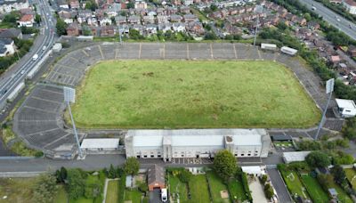
<path id="1" fill-rule="evenodd" d="M 85 194 L 85 178 L 78 169 L 68 170 L 68 191 L 70 199 L 78 199 Z"/>

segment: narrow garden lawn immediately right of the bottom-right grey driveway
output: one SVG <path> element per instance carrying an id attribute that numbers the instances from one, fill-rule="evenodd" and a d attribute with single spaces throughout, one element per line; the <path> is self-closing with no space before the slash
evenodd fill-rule
<path id="1" fill-rule="evenodd" d="M 292 196 L 298 195 L 303 197 L 303 199 L 310 199 L 307 191 L 303 187 L 299 176 L 295 171 L 280 171 L 280 174 L 283 176 L 284 182 L 287 184 L 287 189 Z"/>

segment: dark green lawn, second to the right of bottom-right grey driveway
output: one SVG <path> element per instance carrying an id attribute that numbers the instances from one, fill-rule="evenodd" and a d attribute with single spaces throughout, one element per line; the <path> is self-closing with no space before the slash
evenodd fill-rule
<path id="1" fill-rule="evenodd" d="M 322 188 L 318 180 L 311 175 L 301 175 L 302 182 L 312 198 L 313 202 L 329 202 L 328 194 Z"/>

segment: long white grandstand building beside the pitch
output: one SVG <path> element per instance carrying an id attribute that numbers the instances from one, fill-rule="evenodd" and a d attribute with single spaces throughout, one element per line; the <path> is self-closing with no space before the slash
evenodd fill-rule
<path id="1" fill-rule="evenodd" d="M 214 158 L 218 150 L 235 157 L 268 156 L 270 135 L 264 129 L 129 130 L 125 135 L 126 157 Z"/>

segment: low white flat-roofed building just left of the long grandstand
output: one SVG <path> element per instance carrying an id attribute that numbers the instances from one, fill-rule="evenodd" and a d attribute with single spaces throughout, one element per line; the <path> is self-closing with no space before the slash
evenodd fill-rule
<path id="1" fill-rule="evenodd" d="M 87 154 L 118 150 L 118 138 L 83 139 L 80 149 Z"/>

